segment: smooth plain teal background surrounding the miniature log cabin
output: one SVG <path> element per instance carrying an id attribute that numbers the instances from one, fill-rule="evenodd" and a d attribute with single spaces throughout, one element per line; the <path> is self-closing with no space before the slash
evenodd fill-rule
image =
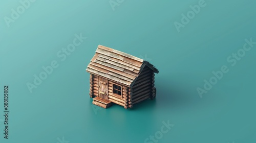
<path id="1" fill-rule="evenodd" d="M 256 1 L 205 1 L 178 32 L 174 22 L 198 2 L 124 1 L 113 10 L 109 1 L 35 1 L 8 28 L 4 17 L 20 3 L 1 1 L 0 92 L 9 85 L 10 113 L 4 139 L 1 93 L 0 142 L 144 142 L 168 120 L 175 126 L 159 142 L 255 142 L 256 45 L 235 66 L 226 59 L 244 39 L 256 41 Z M 61 61 L 56 53 L 80 33 L 87 39 Z M 92 105 L 85 70 L 98 44 L 154 64 L 156 100 Z M 26 84 L 53 60 L 59 66 L 30 93 Z M 222 65 L 229 72 L 200 98 L 197 88 Z"/>

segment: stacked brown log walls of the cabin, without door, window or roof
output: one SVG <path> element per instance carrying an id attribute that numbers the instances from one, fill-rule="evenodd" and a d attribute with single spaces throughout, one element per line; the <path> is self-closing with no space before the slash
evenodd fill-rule
<path id="1" fill-rule="evenodd" d="M 90 97 L 95 98 L 98 96 L 98 79 L 99 77 L 90 74 Z M 109 81 L 108 84 L 108 100 L 123 106 L 125 109 L 133 108 L 134 104 L 144 101 L 148 98 L 155 99 L 156 88 L 155 88 L 155 74 L 152 69 L 147 66 L 144 67 L 143 71 L 137 78 L 132 88 L 122 86 L 122 96 L 118 96 L 113 93 L 113 84 L 120 85 L 118 83 Z"/>

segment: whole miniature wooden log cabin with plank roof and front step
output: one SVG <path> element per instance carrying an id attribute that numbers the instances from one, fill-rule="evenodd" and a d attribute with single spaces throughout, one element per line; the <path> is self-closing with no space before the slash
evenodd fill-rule
<path id="1" fill-rule="evenodd" d="M 98 45 L 86 71 L 94 105 L 108 108 L 115 103 L 127 109 L 156 98 L 155 73 L 159 70 L 143 59 Z"/>

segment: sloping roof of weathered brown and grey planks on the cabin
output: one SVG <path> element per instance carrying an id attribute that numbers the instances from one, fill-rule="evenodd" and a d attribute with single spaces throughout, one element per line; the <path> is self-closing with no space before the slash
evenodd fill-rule
<path id="1" fill-rule="evenodd" d="M 86 71 L 131 86 L 145 65 L 155 73 L 159 72 L 152 64 L 143 59 L 98 45 L 96 54 L 91 59 Z"/>

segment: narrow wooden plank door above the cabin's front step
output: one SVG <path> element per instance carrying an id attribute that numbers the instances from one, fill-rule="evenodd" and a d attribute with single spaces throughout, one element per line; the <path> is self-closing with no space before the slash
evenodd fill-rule
<path id="1" fill-rule="evenodd" d="M 99 88 L 98 88 L 98 95 L 100 98 L 102 99 L 106 99 L 108 100 L 108 80 L 102 78 L 102 77 L 99 77 Z"/>

